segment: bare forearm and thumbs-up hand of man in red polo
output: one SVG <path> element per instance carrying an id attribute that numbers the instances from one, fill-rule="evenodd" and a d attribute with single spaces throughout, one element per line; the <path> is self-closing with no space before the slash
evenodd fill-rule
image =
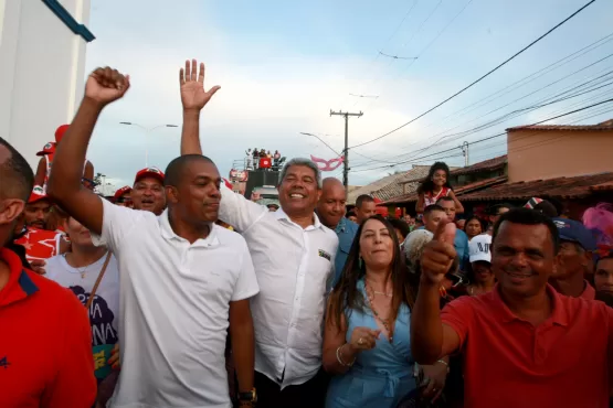
<path id="1" fill-rule="evenodd" d="M 455 259 L 455 225 L 440 224 L 421 257 L 422 276 L 411 314 L 411 351 L 420 364 L 434 364 L 459 347 L 459 336 L 441 320 L 438 288 Z"/>

